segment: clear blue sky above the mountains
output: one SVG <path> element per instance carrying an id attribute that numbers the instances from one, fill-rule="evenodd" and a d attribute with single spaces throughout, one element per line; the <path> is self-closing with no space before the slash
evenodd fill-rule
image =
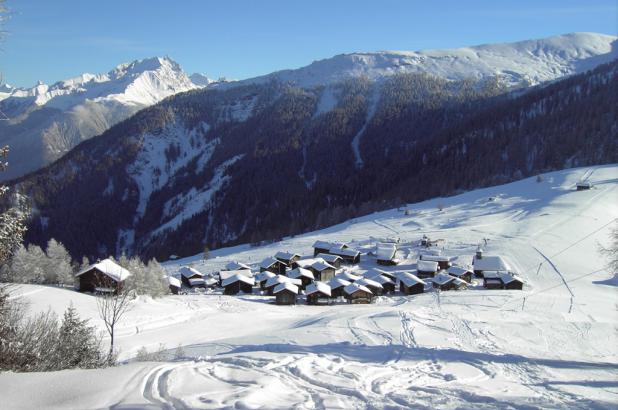
<path id="1" fill-rule="evenodd" d="M 618 1 L 7 0 L 5 81 L 31 86 L 169 55 L 185 71 L 242 79 L 353 51 L 618 34 Z"/>

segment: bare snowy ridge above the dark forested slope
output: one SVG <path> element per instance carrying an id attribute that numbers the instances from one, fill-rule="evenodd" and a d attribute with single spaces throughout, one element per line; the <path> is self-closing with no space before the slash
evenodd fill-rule
<path id="1" fill-rule="evenodd" d="M 397 73 L 426 72 L 451 80 L 500 76 L 507 85 L 521 87 L 581 73 L 618 58 L 616 39 L 597 33 L 571 33 L 457 49 L 341 54 L 246 81 L 276 78 L 310 87 L 348 77 L 376 79 Z"/>

